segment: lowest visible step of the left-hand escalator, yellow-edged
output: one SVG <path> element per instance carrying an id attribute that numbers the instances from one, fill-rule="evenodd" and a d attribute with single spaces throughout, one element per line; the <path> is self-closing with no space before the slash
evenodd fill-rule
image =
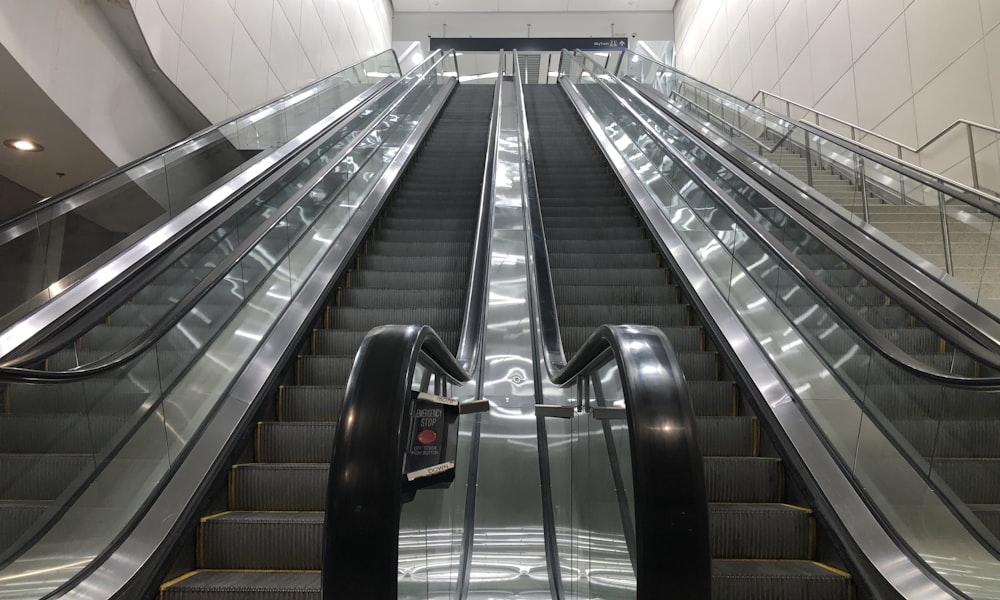
<path id="1" fill-rule="evenodd" d="M 320 600 L 318 571 L 192 571 L 160 587 L 160 600 Z"/>

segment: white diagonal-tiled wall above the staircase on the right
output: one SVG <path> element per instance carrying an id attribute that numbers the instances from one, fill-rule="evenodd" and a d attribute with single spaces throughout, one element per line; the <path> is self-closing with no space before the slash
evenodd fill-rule
<path id="1" fill-rule="evenodd" d="M 744 98 L 768 90 L 913 147 L 958 118 L 1000 122 L 1000 0 L 679 0 L 675 23 L 678 67 Z M 1000 190 L 996 141 L 977 136 L 977 159 Z M 919 161 L 970 181 L 968 155 L 956 131 Z"/>

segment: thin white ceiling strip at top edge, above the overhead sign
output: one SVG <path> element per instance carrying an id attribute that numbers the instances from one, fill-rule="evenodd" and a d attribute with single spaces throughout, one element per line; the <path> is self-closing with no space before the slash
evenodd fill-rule
<path id="1" fill-rule="evenodd" d="M 392 0 L 396 12 L 651 12 L 676 0 Z"/>

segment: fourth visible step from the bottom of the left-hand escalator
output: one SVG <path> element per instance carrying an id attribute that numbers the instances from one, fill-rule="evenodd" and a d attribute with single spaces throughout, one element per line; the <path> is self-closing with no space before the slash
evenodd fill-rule
<path id="1" fill-rule="evenodd" d="M 336 431 L 333 422 L 263 421 L 257 424 L 257 460 L 329 464 Z"/>

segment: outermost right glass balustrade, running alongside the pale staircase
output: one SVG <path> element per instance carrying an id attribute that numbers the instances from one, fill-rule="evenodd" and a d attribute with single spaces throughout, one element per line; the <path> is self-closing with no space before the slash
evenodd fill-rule
<path id="1" fill-rule="evenodd" d="M 948 238 L 945 237 L 939 210 L 942 202 L 939 196 L 943 196 L 944 203 L 949 207 L 946 219 L 948 233 L 954 230 L 959 236 L 950 239 L 948 250 L 953 255 L 962 255 L 961 259 L 953 261 L 955 264 L 948 271 L 954 275 L 949 284 L 973 301 L 979 301 L 987 310 L 1000 314 L 1000 306 L 995 302 L 998 297 L 995 286 L 988 283 L 996 277 L 990 277 L 995 273 L 985 267 L 989 262 L 987 246 L 960 241 L 987 241 L 989 234 L 986 231 L 991 228 L 994 217 L 986 215 L 985 218 L 971 219 L 975 221 L 973 223 L 968 222 L 969 219 L 963 221 L 961 217 L 956 218 L 954 213 L 967 216 L 980 211 L 962 202 L 964 192 L 957 188 L 953 193 L 942 191 L 904 175 L 895 163 L 889 162 L 896 154 L 902 154 L 902 150 L 882 148 L 891 153 L 885 161 L 862 160 L 835 137 L 807 132 L 791 123 L 791 118 L 805 116 L 801 112 L 795 113 L 791 105 L 776 105 L 785 111 L 784 116 L 778 115 L 644 56 L 630 54 L 630 58 L 623 63 L 622 72 L 686 107 L 696 117 L 711 122 L 747 152 L 763 155 L 780 167 L 786 176 L 798 180 L 800 186 L 804 184 L 814 188 L 820 194 L 817 198 L 829 200 L 832 209 L 854 224 L 868 223 L 875 227 L 877 233 L 883 234 L 883 243 L 888 247 L 908 249 L 929 261 L 939 270 L 934 272 L 935 275 L 948 271 L 945 258 Z M 836 126 L 828 121 L 822 121 L 821 125 L 828 128 Z M 981 167 L 978 172 L 983 185 L 983 181 L 996 174 L 996 169 L 991 170 L 990 165 L 996 164 L 997 134 L 978 129 L 974 131 L 977 157 L 982 159 L 976 164 Z M 857 137 L 853 130 L 839 132 L 848 138 Z M 871 138 L 865 143 L 877 141 Z M 918 159 L 916 156 L 906 158 Z M 949 172 L 949 177 L 957 177 L 971 185 L 971 162 L 968 171 L 968 174 Z M 945 182 L 941 182 L 941 186 L 948 189 Z M 985 189 L 998 188 L 986 186 Z M 958 244 L 962 246 L 958 247 Z M 963 266 L 959 267 L 959 264 Z"/>

